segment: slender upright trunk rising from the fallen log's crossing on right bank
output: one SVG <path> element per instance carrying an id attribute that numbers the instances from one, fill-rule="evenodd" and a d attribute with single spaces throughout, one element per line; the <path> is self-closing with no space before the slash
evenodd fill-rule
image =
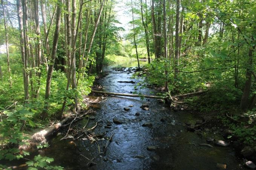
<path id="1" fill-rule="evenodd" d="M 167 24 L 166 24 L 166 0 L 163 0 L 162 3 L 163 6 L 163 32 L 164 32 L 164 58 L 166 59 L 165 62 L 165 76 L 166 76 L 166 81 L 165 81 L 165 86 L 164 86 L 164 90 L 166 92 L 169 92 L 169 88 L 168 88 L 168 55 L 167 55 Z"/>

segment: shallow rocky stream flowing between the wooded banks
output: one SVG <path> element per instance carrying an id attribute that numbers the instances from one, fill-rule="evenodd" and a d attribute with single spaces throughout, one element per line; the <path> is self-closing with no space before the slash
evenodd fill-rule
<path id="1" fill-rule="evenodd" d="M 122 66 L 136 66 L 136 62 Z M 106 67 L 105 71 L 111 71 L 111 67 Z M 109 73 L 96 83 L 103 86 L 105 91 L 130 93 L 135 91 L 136 84 L 118 81 L 139 81 L 131 76 L 132 74 Z M 156 93 L 149 88 L 138 91 L 149 95 Z M 148 111 L 140 108 L 145 103 L 149 105 Z M 124 111 L 129 105 L 133 107 Z M 206 137 L 224 139 L 213 132 L 212 136 L 200 137 L 187 131 L 183 123 L 188 120 L 196 121 L 190 112 L 173 112 L 166 104 L 159 103 L 156 99 L 141 100 L 138 97 L 107 96 L 92 107 L 96 111 L 93 115 L 95 120 L 89 120 L 87 128 L 95 126 L 98 122 L 93 131 L 95 134 L 104 134 L 109 138 L 113 135 L 112 141 L 106 147 L 106 154 L 100 154 L 108 141 L 106 138 L 93 143 L 86 138 L 70 142 L 73 140 L 60 140 L 65 132 L 59 132 L 49 141 L 50 146 L 41 150 L 42 155 L 54 158 L 54 164 L 67 170 L 216 170 L 218 163 L 226 164 L 227 170 L 244 169 L 242 160 L 237 158 L 235 150 L 231 147 L 218 147 L 213 144 L 212 148 L 199 146 L 207 143 Z M 139 115 L 135 115 L 137 112 Z M 161 121 L 163 117 L 166 118 L 164 122 Z M 113 118 L 122 123 L 113 123 Z M 87 121 L 87 118 L 83 118 L 77 121 L 75 126 L 82 128 Z M 142 126 L 149 122 L 152 123 L 151 127 Z M 107 124 L 110 128 L 105 127 Z M 147 150 L 148 146 L 154 146 L 152 151 Z M 93 162 L 96 164 L 88 166 L 87 158 L 94 158 Z"/>

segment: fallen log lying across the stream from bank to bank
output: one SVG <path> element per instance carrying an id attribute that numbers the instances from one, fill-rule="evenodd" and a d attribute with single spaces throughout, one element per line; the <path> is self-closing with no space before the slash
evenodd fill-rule
<path id="1" fill-rule="evenodd" d="M 144 95 L 144 94 L 126 94 L 126 93 L 112 93 L 112 92 L 106 92 L 106 91 L 98 91 L 98 90 L 92 90 L 94 93 L 99 93 L 99 94 L 109 94 L 113 96 L 128 96 L 128 97 L 146 97 L 146 98 L 152 98 L 152 99 L 169 99 L 169 97 L 163 97 L 163 96 L 151 96 L 151 95 Z M 198 95 L 202 93 L 206 93 L 207 91 L 196 91 L 192 93 L 187 93 L 187 94 L 180 94 L 176 96 L 172 96 L 173 98 L 178 98 L 178 97 L 187 97 L 187 96 L 193 96 L 193 95 Z"/>

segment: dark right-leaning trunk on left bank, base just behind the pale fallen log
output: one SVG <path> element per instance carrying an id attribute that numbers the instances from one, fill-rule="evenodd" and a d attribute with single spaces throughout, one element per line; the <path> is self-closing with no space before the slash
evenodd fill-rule
<path id="1" fill-rule="evenodd" d="M 54 69 L 54 63 L 55 63 L 55 57 L 58 47 L 58 37 L 60 32 L 60 20 L 61 20 L 61 5 L 62 1 L 58 0 L 57 4 L 57 14 L 56 14 L 56 26 L 55 26 L 55 33 L 54 38 L 52 42 L 52 53 L 51 53 L 51 62 L 49 62 L 49 69 L 47 73 L 47 79 L 46 79 L 46 90 L 45 90 L 45 103 L 44 103 L 44 110 L 42 113 L 42 119 L 46 118 L 48 116 L 48 109 L 49 109 L 49 103 L 48 99 L 51 92 L 51 80 L 52 80 L 52 73 Z"/>

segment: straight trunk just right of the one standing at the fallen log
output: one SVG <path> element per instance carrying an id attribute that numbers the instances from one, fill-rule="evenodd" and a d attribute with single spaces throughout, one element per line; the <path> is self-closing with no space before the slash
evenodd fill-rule
<path id="1" fill-rule="evenodd" d="M 174 79 L 177 79 L 179 71 L 179 6 L 180 0 L 176 0 Z"/>

